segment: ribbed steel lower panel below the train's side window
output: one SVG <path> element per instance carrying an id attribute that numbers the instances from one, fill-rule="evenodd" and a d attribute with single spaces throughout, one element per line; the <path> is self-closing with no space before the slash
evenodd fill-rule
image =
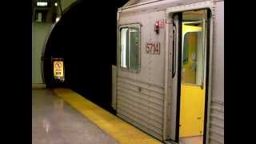
<path id="1" fill-rule="evenodd" d="M 118 77 L 117 115 L 162 139 L 163 87 Z"/>

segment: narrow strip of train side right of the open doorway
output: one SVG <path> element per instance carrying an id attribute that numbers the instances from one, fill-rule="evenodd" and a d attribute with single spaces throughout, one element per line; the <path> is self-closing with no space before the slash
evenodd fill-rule
<path id="1" fill-rule="evenodd" d="M 224 2 L 214 1 L 214 40 L 209 143 L 224 143 Z"/>

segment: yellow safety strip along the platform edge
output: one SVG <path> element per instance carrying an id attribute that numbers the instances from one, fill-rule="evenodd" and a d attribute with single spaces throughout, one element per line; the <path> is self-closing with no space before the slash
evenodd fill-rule
<path id="1" fill-rule="evenodd" d="M 54 89 L 54 94 L 69 103 L 91 122 L 94 122 L 107 134 L 110 134 L 120 144 L 160 144 L 162 142 L 143 133 L 129 123 L 110 114 L 108 111 L 90 102 L 81 95 L 69 89 Z"/>

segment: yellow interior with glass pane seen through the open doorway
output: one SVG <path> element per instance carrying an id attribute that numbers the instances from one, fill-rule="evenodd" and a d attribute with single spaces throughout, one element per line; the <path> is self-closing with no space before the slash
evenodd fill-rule
<path id="1" fill-rule="evenodd" d="M 182 14 L 182 81 L 179 142 L 202 144 L 205 113 L 206 10 Z"/>

